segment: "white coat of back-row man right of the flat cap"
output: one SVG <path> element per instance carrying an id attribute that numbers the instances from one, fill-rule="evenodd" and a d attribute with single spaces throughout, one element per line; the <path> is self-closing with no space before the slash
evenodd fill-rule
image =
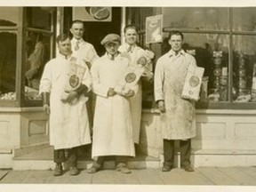
<path id="1" fill-rule="evenodd" d="M 118 49 L 121 53 L 128 53 L 130 56 L 130 65 L 137 65 L 137 60 L 142 56 L 146 56 L 147 53 L 139 46 L 133 46 L 132 52 L 128 52 L 129 44 L 121 45 Z M 140 142 L 140 120 L 141 120 L 141 109 L 142 109 L 142 84 L 141 80 L 138 82 L 136 87 L 135 95 L 131 100 L 132 110 L 132 132 L 134 143 L 139 144 Z"/>

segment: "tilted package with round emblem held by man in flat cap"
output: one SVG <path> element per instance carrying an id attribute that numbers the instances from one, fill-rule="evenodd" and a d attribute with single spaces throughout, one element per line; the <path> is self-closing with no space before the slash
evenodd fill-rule
<path id="1" fill-rule="evenodd" d="M 125 94 L 132 89 L 140 80 L 140 76 L 145 72 L 147 62 L 147 59 L 142 56 L 137 60 L 137 65 L 130 65 L 124 71 L 124 74 L 119 79 L 114 90 L 120 94 Z"/>

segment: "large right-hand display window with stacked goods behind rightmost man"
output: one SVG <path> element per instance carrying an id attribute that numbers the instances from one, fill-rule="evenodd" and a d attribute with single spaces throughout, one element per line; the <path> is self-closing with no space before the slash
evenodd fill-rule
<path id="1" fill-rule="evenodd" d="M 151 11 L 149 8 L 127 8 L 127 12 L 132 12 L 129 20 L 140 28 L 140 46 L 149 47 L 156 53 L 155 67 L 156 60 L 171 48 L 168 33 L 175 29 L 184 34 L 183 49 L 196 58 L 199 67 L 204 68 L 196 108 L 255 108 L 256 8 L 157 7 Z M 163 14 L 164 18 L 163 42 L 146 44 L 142 23 L 146 17 L 157 14 Z M 143 102 L 151 100 L 152 104 L 144 108 L 155 108 L 153 92 L 148 91 L 154 89 L 153 84 L 147 84 L 146 88 Z"/>

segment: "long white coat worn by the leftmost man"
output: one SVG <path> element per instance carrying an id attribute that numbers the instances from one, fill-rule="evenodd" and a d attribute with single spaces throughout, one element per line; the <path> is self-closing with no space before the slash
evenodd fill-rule
<path id="1" fill-rule="evenodd" d="M 92 85 L 89 68 L 86 68 L 82 84 Z M 74 148 L 91 143 L 90 128 L 85 102 L 81 95 L 75 104 L 63 103 L 60 99 L 67 82 L 68 60 L 63 55 L 46 63 L 40 82 L 40 92 L 50 92 L 50 145 L 54 149 Z"/>

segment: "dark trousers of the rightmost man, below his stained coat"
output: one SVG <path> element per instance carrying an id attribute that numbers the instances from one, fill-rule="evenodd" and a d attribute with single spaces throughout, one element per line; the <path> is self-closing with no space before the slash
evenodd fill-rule
<path id="1" fill-rule="evenodd" d="M 188 166 L 191 155 L 191 139 L 180 140 L 180 165 Z M 174 140 L 164 140 L 164 165 L 173 166 Z"/>

